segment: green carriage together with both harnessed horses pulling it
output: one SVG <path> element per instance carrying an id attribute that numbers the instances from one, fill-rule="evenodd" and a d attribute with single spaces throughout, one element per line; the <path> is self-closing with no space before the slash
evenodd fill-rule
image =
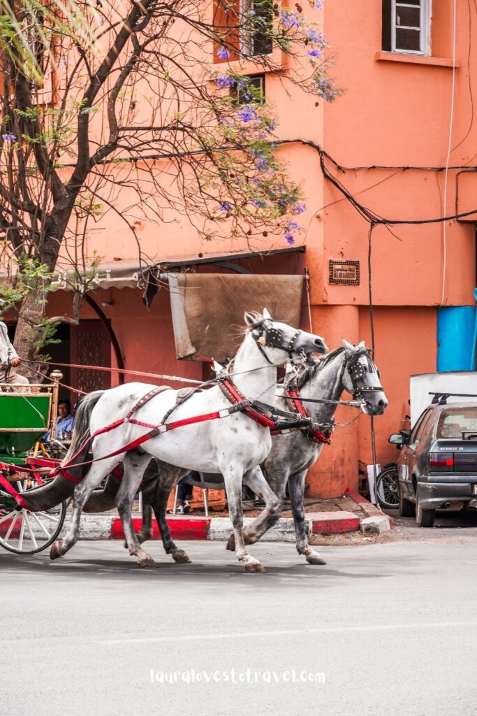
<path id="1" fill-rule="evenodd" d="M 287 481 L 297 550 L 308 562 L 323 564 L 305 533 L 305 476 L 330 442 L 338 405 L 368 415 L 384 412 L 388 401 L 379 372 L 364 344 L 344 341 L 317 361 L 313 354 L 327 351 L 323 338 L 274 321 L 266 309 L 245 314 L 245 322 L 234 362 L 227 369 L 215 364 L 217 377 L 207 390 L 184 394 L 168 386 L 127 383 L 85 396 L 63 460 L 39 455 L 34 448 L 50 424 L 54 430 L 57 387 L 39 385 L 20 392 L 23 386 L 1 394 L 0 546 L 34 553 L 51 545 L 50 557 L 56 559 L 77 541 L 83 512 L 117 507 L 129 553 L 140 566 L 154 566 L 140 544 L 149 533 L 143 525 L 138 536 L 131 518 L 134 495 L 142 489 L 165 551 L 174 561 L 189 561 L 172 540 L 165 510 L 172 486 L 181 475 L 197 470 L 224 477 L 233 527 L 228 546 L 246 571 L 263 571 L 245 544 L 257 541 L 280 516 Z M 277 366 L 284 362 L 293 362 L 297 373 L 277 384 Z M 352 402 L 341 400 L 345 390 Z M 170 436 L 176 428 L 180 438 L 176 432 Z M 242 483 L 265 500 L 264 511 L 245 530 Z M 71 497 L 68 530 L 57 539 Z"/>

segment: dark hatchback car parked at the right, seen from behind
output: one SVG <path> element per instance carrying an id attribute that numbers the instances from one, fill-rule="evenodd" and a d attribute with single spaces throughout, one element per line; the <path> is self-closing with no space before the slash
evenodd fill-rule
<path id="1" fill-rule="evenodd" d="M 477 507 L 477 403 L 429 405 L 410 435 L 395 432 L 399 512 L 432 527 L 436 510 Z"/>

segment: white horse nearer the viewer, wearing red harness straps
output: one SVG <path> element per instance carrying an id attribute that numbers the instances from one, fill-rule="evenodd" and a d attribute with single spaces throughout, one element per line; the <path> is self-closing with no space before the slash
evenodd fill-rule
<path id="1" fill-rule="evenodd" d="M 267 405 L 275 402 L 277 366 L 300 354 L 326 352 L 323 338 L 291 328 L 274 321 L 268 311 L 263 314 L 245 314 L 245 338 L 233 362 L 232 379 L 248 400 L 260 400 Z M 123 450 L 129 443 L 149 432 L 134 425 L 127 415 L 154 386 L 144 383 L 127 383 L 111 390 L 97 391 L 84 398 L 77 412 L 72 445 L 62 465 L 70 476 L 81 478 L 82 463 L 89 460 L 85 441 L 91 435 L 125 419 L 109 432 L 93 437 L 91 468 L 74 490 L 73 514 L 67 535 L 51 546 L 52 559 L 64 555 L 77 541 L 82 509 L 94 488 L 122 462 L 124 478 L 117 493 L 116 503 L 121 517 L 129 553 L 137 557 L 141 566 L 155 566 L 154 560 L 139 545 L 132 527 L 131 511 L 134 495 L 139 488 L 144 470 L 151 458 L 169 465 L 205 473 L 222 473 L 227 490 L 230 517 L 235 534 L 235 553 L 249 572 L 263 571 L 262 564 L 245 549 L 242 536 L 242 480 L 265 499 L 265 513 L 275 511 L 278 500 L 267 485 L 260 463 L 272 446 L 270 430 L 247 417 L 234 412 L 222 420 L 207 420 L 162 432 L 143 442 L 141 448 Z M 207 415 L 230 408 L 230 401 L 215 385 L 208 390 L 195 392 L 177 404 L 178 391 L 164 390 L 134 412 L 134 419 L 149 425 L 162 420 L 172 422 Z M 112 453 L 115 453 L 112 455 Z M 188 561 L 180 549 L 172 553 L 175 561 Z"/>

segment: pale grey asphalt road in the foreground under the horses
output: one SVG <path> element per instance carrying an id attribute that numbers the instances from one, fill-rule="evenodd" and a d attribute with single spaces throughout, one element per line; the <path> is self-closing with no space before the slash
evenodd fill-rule
<path id="1" fill-rule="evenodd" d="M 155 570 L 119 542 L 54 563 L 0 551 L 0 714 L 476 712 L 473 530 L 328 546 L 321 567 L 263 543 L 257 575 L 224 543 L 186 548 L 193 564 L 176 565 L 152 543 Z"/>

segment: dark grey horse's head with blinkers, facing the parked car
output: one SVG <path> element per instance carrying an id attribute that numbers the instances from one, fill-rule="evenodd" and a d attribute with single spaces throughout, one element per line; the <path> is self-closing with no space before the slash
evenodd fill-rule
<path id="1" fill-rule="evenodd" d="M 380 375 L 364 342 L 353 345 L 343 338 L 344 361 L 341 384 L 354 398 L 363 401 L 368 415 L 383 415 L 388 399 L 380 383 Z"/>

